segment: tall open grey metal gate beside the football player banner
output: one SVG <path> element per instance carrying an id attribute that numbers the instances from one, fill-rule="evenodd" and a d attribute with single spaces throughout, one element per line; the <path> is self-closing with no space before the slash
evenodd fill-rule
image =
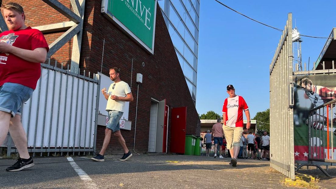
<path id="1" fill-rule="evenodd" d="M 270 166 L 295 179 L 292 14 L 270 65 Z"/>

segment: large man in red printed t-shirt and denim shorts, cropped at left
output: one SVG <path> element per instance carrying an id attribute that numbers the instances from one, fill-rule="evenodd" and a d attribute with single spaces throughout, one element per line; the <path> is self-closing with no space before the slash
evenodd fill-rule
<path id="1" fill-rule="evenodd" d="M 21 171 L 34 166 L 21 123 L 21 107 L 36 88 L 40 63 L 45 62 L 49 47 L 39 30 L 25 25 L 22 6 L 3 5 L 3 14 L 9 31 L 0 34 L 0 145 L 9 130 L 20 158 L 6 171 Z"/>

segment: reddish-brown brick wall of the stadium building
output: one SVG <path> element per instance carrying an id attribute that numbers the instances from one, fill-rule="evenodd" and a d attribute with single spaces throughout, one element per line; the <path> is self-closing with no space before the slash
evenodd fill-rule
<path id="1" fill-rule="evenodd" d="M 6 3 L 8 1 L 4 1 Z M 39 26 L 69 21 L 40 0 L 19 0 L 27 14 L 26 23 L 29 26 Z M 32 3 L 34 2 L 34 3 Z M 65 6 L 71 8 L 70 1 L 60 0 Z M 41 8 L 41 10 L 38 10 Z M 159 5 L 157 5 L 156 34 L 154 55 L 143 49 L 137 42 L 126 35 L 114 25 L 109 18 L 100 13 L 101 0 L 86 0 L 83 25 L 80 68 L 96 73 L 100 71 L 103 39 L 105 38 L 104 62 L 102 73 L 108 75 L 110 67 L 121 68 L 121 79 L 130 84 L 132 80 L 132 93 L 134 102 L 130 103 L 129 120 L 132 121 L 132 130 L 121 131 L 127 147 L 133 149 L 134 123 L 136 110 L 136 73 L 143 75 L 143 83 L 139 85 L 137 130 L 135 151 L 144 153 L 148 151 L 148 136 L 150 123 L 151 98 L 166 99 L 171 108 L 187 107 L 186 134 L 199 136 L 200 120 L 191 99 L 182 69 L 178 62 L 172 41 L 165 25 Z M 62 32 L 45 34 L 50 44 Z M 70 64 L 72 41 L 52 56 L 52 61 Z M 131 78 L 131 63 L 133 59 L 133 77 Z M 145 66 L 142 66 L 142 62 Z M 102 86 L 103 87 L 103 86 Z M 107 86 L 106 86 L 107 87 Z M 168 124 L 168 152 L 170 145 L 170 121 Z M 100 150 L 104 138 L 103 126 L 97 129 L 97 150 Z M 112 137 L 107 153 L 122 153 L 122 148 Z"/>

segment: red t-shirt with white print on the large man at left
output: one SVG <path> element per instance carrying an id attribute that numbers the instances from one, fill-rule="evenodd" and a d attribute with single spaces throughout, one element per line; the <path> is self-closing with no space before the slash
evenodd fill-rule
<path id="1" fill-rule="evenodd" d="M 36 48 L 46 48 L 48 44 L 41 31 L 28 27 L 23 30 L 9 30 L 0 34 L 0 42 L 9 45 L 34 50 Z M 41 76 L 41 65 L 26 61 L 18 56 L 0 52 L 0 86 L 4 83 L 18 83 L 35 90 L 37 80 Z"/>

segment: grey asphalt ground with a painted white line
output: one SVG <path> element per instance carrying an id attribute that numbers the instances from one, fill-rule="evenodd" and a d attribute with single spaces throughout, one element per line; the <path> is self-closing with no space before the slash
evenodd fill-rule
<path id="1" fill-rule="evenodd" d="M 34 167 L 19 172 L 5 171 L 15 160 L 0 159 L 0 188 L 287 188 L 281 184 L 285 176 L 269 161 L 238 159 L 233 167 L 230 158 L 133 155 L 121 162 L 120 157 L 108 155 L 104 162 L 72 157 L 75 165 L 67 157 L 34 158 Z M 336 186 L 334 167 L 328 171 L 332 179 L 313 167 L 300 173 L 319 175 L 321 188 Z"/>

